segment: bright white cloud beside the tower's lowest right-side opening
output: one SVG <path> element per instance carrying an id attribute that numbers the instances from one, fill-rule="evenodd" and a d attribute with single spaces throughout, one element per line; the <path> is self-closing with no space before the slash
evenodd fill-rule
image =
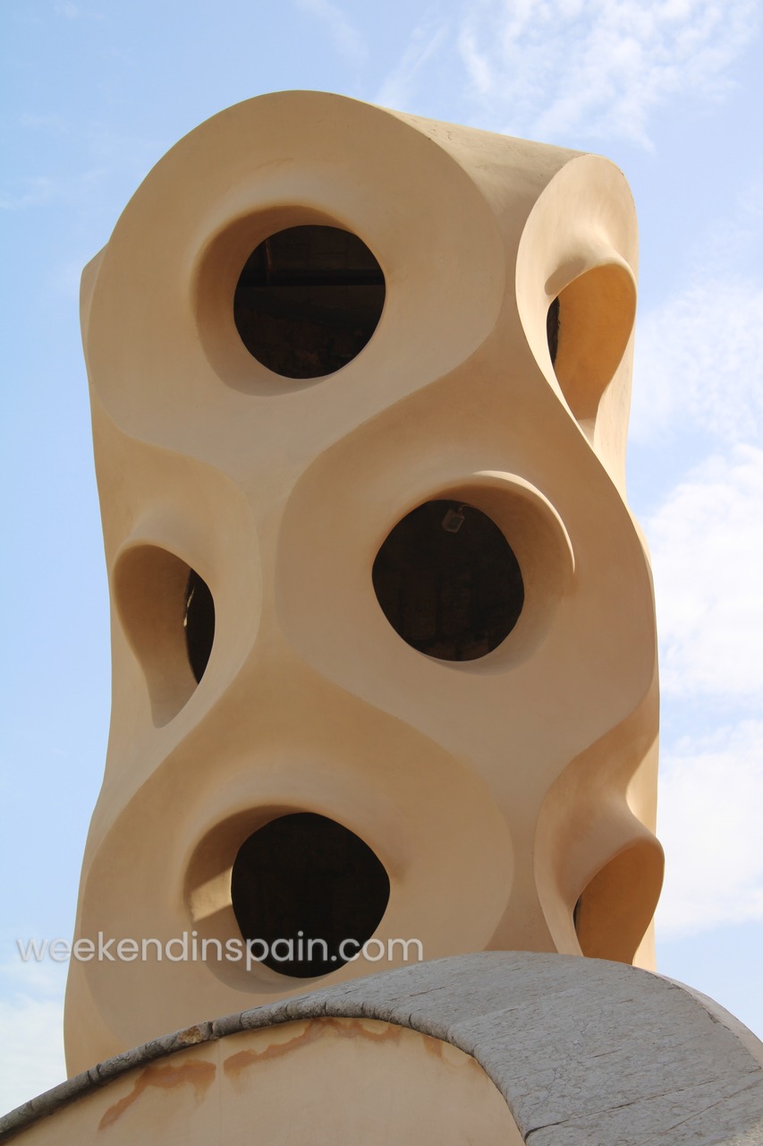
<path id="1" fill-rule="evenodd" d="M 682 740 L 663 756 L 660 937 L 763 920 L 763 721 Z"/>

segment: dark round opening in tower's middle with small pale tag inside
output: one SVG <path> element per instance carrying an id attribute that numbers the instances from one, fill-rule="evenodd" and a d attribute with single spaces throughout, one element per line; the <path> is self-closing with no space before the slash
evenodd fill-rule
<path id="1" fill-rule="evenodd" d="M 519 563 L 498 526 L 457 501 L 425 502 L 399 521 L 372 575 L 395 633 L 440 660 L 491 652 L 525 602 Z"/>

